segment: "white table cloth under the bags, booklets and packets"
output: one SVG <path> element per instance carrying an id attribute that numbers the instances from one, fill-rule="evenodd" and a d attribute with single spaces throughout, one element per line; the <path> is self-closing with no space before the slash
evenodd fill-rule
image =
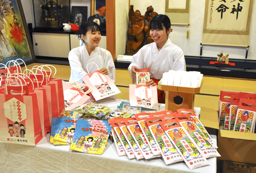
<path id="1" fill-rule="evenodd" d="M 117 99 L 99 100 L 97 103 L 116 106 Z M 164 105 L 160 104 L 160 109 Z M 147 110 L 149 111 L 149 110 Z M 217 143 L 217 136 L 211 135 Z M 49 143 L 48 133 L 36 146 L 0 142 L 1 172 L 197 172 L 217 171 L 217 159 L 207 159 L 208 166 L 190 170 L 185 162 L 166 165 L 163 159 L 129 160 L 127 156 L 119 157 L 112 141 L 108 140 L 103 155 L 75 152 L 69 145 L 54 146 Z"/>

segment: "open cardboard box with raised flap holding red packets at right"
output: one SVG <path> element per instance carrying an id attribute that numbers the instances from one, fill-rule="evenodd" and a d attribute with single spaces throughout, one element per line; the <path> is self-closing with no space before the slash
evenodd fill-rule
<path id="1" fill-rule="evenodd" d="M 200 121 L 206 127 L 219 129 L 218 111 L 201 107 Z M 256 134 L 219 130 L 217 159 L 256 164 Z"/>

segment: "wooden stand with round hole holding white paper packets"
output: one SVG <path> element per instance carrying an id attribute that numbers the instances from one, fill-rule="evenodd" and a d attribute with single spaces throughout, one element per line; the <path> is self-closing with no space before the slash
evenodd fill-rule
<path id="1" fill-rule="evenodd" d="M 177 110 L 181 108 L 194 110 L 195 94 L 200 93 L 202 85 L 203 80 L 198 88 L 162 85 L 159 82 L 157 89 L 165 91 L 165 110 L 177 112 Z M 183 99 L 180 104 L 175 102 L 175 97 L 177 96 Z"/>

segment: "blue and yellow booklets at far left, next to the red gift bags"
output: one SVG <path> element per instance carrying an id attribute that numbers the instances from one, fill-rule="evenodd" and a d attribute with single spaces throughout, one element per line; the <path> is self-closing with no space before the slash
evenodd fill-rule
<path id="1" fill-rule="evenodd" d="M 54 145 L 70 145 L 73 140 L 76 118 L 53 117 L 50 142 Z"/>

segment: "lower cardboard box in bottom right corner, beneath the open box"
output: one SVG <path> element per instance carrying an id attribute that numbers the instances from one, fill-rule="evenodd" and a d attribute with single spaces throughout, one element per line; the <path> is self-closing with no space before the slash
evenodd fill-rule
<path id="1" fill-rule="evenodd" d="M 222 161 L 222 173 L 234 173 L 234 172 L 247 172 L 255 173 L 256 165 L 231 162 L 231 161 Z"/>

